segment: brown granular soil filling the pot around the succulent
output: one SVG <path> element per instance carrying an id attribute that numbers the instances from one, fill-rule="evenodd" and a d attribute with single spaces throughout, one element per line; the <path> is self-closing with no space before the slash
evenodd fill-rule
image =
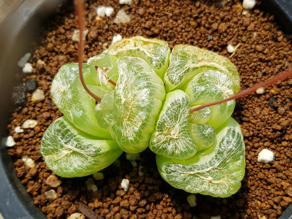
<path id="1" fill-rule="evenodd" d="M 227 45 L 241 44 L 232 62 L 237 65 L 241 87 L 247 88 L 292 67 L 291 41 L 277 29 L 274 18 L 257 7 L 246 15 L 240 1 L 190 1 L 190 0 L 133 0 L 124 6 L 133 15 L 126 24 L 114 24 L 115 13 L 122 7 L 118 0 L 89 0 L 86 4 L 86 29 L 84 61 L 104 50 L 114 34 L 123 37 L 142 35 L 165 40 L 172 48 L 176 44 L 190 44 L 207 48 L 229 57 Z M 114 7 L 111 17 L 95 20 L 92 4 Z M 258 3 L 259 4 L 259 3 Z M 107 168 L 104 180 L 95 180 L 98 191 L 89 192 L 84 178 L 59 178 L 57 187 L 46 184 L 54 175 L 40 154 L 40 141 L 49 124 L 62 113 L 52 102 L 51 82 L 60 66 L 77 61 L 77 42 L 72 32 L 77 28 L 72 5 L 60 8 L 58 15 L 48 22 L 35 43 L 32 58 L 39 88 L 45 91 L 45 100 L 35 103 L 27 94 L 26 107 L 11 114 L 8 130 L 16 145 L 8 150 L 21 182 L 32 195 L 33 202 L 47 218 L 68 218 L 78 211 L 79 203 L 87 205 L 103 218 L 162 218 L 210 219 L 261 218 L 274 219 L 291 203 L 292 197 L 292 79 L 266 88 L 266 93 L 255 93 L 237 100 L 234 117 L 240 123 L 246 144 L 246 176 L 239 192 L 229 198 L 197 195 L 197 206 L 186 202 L 187 193 L 174 189 L 161 179 L 154 155 L 149 151 L 143 157 L 143 176 L 138 167 L 131 166 L 122 155 L 120 167 Z M 36 65 L 38 59 L 46 65 Z M 38 124 L 24 133 L 13 129 L 26 119 L 36 119 Z M 267 148 L 275 152 L 275 161 L 257 162 L 258 153 Z M 36 167 L 24 166 L 21 157 L 27 155 Z M 139 165 L 139 163 L 138 163 Z M 92 176 L 89 176 L 92 177 Z M 121 190 L 123 178 L 130 180 L 128 192 Z M 54 178 L 50 178 L 54 181 Z M 49 181 L 50 181 L 49 180 Z M 57 180 L 55 178 L 55 180 Z M 50 184 L 50 183 L 49 183 Z M 57 198 L 47 200 L 44 192 L 55 190 Z"/>

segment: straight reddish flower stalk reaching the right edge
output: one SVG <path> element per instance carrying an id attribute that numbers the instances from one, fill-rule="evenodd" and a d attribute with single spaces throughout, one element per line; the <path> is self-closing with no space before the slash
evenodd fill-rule
<path id="1" fill-rule="evenodd" d="M 232 97 L 229 97 L 229 98 L 226 98 L 226 99 L 223 99 L 223 100 L 217 100 L 217 101 L 211 102 L 211 103 L 206 103 L 206 104 L 203 104 L 203 105 L 201 105 L 199 107 L 193 108 L 193 109 L 190 110 L 190 113 L 196 112 L 196 111 L 198 111 L 200 109 L 203 109 L 205 107 L 210 107 L 210 106 L 217 105 L 217 104 L 220 104 L 220 103 L 224 103 L 224 102 L 227 102 L 227 101 L 230 101 L 230 100 L 235 100 L 235 99 L 241 98 L 246 94 L 250 94 L 250 93 L 256 91 L 258 88 L 270 86 L 270 85 L 276 83 L 277 81 L 284 81 L 285 79 L 287 79 L 290 76 L 292 76 L 292 70 L 288 70 L 288 71 L 284 72 L 283 74 L 280 74 L 280 75 L 278 75 L 278 76 L 276 76 L 276 77 L 274 77 L 272 79 L 269 79 L 267 81 L 258 83 L 255 86 L 252 86 L 250 88 L 246 88 L 243 91 L 240 91 L 239 93 L 233 95 Z"/>

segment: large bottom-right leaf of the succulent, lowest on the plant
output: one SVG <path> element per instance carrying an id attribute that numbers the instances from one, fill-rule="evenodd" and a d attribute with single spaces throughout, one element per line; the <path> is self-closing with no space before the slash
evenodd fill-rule
<path id="1" fill-rule="evenodd" d="M 237 122 L 230 118 L 218 130 L 216 143 L 186 161 L 157 155 L 162 178 L 175 188 L 213 197 L 228 197 L 244 177 L 245 146 Z"/>

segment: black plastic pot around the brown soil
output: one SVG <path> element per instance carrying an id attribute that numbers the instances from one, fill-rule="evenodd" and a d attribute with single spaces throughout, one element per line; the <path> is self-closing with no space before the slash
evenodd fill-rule
<path id="1" fill-rule="evenodd" d="M 0 26 L 0 138 L 7 136 L 10 97 L 13 86 L 19 81 L 18 60 L 28 51 L 42 22 L 53 15 L 66 0 L 23 0 Z M 292 34 L 292 0 L 263 0 L 261 7 L 275 15 L 278 25 Z M 5 219 L 45 219 L 45 215 L 32 203 L 16 171 L 7 148 L 0 148 L 0 212 Z M 279 219 L 292 219 L 292 204 Z"/>

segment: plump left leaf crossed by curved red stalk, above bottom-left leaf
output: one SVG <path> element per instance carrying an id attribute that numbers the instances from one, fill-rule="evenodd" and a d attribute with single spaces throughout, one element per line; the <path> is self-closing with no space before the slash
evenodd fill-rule
<path id="1" fill-rule="evenodd" d="M 109 90 L 95 86 L 89 66 L 83 64 L 84 80 L 91 85 L 95 94 L 106 93 Z M 95 118 L 95 100 L 86 93 L 80 79 L 77 63 L 63 65 L 56 74 L 51 88 L 51 95 L 56 106 L 67 119 L 82 131 L 100 138 L 111 138 L 110 134 L 102 129 Z"/>

